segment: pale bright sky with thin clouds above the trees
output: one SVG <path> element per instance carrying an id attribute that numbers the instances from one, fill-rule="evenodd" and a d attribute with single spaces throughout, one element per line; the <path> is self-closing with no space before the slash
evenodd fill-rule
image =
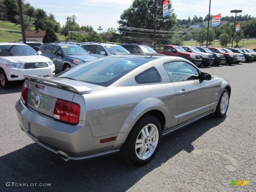
<path id="1" fill-rule="evenodd" d="M 95 31 L 99 26 L 106 31 L 108 28 L 118 28 L 117 23 L 123 11 L 132 5 L 133 0 L 26 0 L 34 8 L 44 9 L 47 14 L 53 13 L 61 27 L 65 25 L 68 16 L 75 15 L 79 26 L 91 25 Z M 210 0 L 172 0 L 172 8 L 178 19 L 192 19 L 209 13 Z M 211 0 L 210 15 L 235 16 L 230 10 L 238 9 L 241 15 L 256 17 L 256 1 L 246 0 Z M 101 31 L 102 32 L 102 31 Z"/>

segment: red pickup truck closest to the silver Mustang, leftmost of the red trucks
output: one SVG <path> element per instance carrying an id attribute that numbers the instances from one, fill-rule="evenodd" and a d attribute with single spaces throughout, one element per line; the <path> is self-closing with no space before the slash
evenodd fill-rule
<path id="1" fill-rule="evenodd" d="M 164 55 L 183 57 L 194 63 L 197 67 L 202 65 L 202 58 L 199 54 L 186 52 L 182 47 L 177 45 L 165 45 L 163 51 L 156 52 Z"/>

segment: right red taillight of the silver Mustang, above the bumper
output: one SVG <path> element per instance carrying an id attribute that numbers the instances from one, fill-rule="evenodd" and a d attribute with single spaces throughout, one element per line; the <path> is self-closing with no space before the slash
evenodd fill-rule
<path id="1" fill-rule="evenodd" d="M 57 99 L 54 107 L 53 118 L 67 123 L 78 124 L 80 105 L 70 101 Z"/>

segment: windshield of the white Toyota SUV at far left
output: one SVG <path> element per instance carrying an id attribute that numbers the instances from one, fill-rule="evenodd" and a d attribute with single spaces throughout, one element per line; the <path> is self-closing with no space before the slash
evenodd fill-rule
<path id="1" fill-rule="evenodd" d="M 37 52 L 28 45 L 0 45 L 0 56 L 29 56 L 38 55 Z"/>

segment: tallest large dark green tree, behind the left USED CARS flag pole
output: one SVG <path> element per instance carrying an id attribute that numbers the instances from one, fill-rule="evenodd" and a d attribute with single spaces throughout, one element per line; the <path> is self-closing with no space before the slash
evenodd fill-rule
<path id="1" fill-rule="evenodd" d="M 163 1 L 156 1 L 156 30 L 169 31 L 176 23 L 176 15 L 173 13 L 172 3 L 169 1 L 169 15 L 163 18 Z M 132 5 L 121 14 L 118 24 L 122 35 L 131 36 L 133 40 L 138 40 L 139 43 L 147 39 L 152 41 L 154 38 L 153 32 L 143 29 L 154 30 L 154 0 L 134 0 Z M 132 28 L 138 28 L 138 30 L 135 31 Z M 157 39 L 171 37 L 170 33 L 157 35 Z"/>

